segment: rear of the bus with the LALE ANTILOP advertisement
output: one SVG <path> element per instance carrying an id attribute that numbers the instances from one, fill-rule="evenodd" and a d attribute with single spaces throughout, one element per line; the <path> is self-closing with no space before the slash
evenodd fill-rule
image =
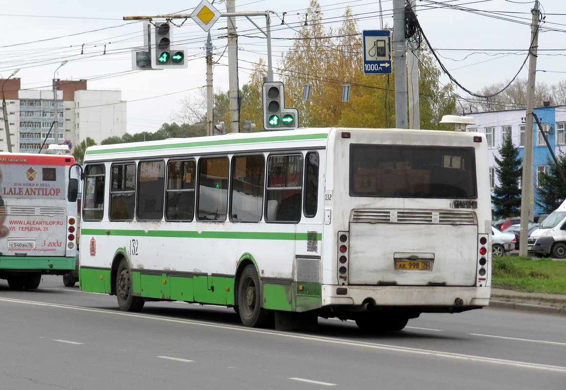
<path id="1" fill-rule="evenodd" d="M 69 155 L 0 154 L 0 278 L 11 288 L 37 288 L 42 274 L 74 270 L 76 191 L 67 198 L 74 163 Z"/>

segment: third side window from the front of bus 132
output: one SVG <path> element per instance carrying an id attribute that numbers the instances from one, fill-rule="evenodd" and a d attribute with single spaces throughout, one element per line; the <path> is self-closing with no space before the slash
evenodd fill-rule
<path id="1" fill-rule="evenodd" d="M 143 161 L 138 166 L 138 220 L 161 220 L 165 200 L 165 162 Z"/>

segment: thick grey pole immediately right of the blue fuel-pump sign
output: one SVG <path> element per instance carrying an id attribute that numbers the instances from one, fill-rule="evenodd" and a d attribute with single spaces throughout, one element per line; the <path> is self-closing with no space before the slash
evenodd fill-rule
<path id="1" fill-rule="evenodd" d="M 395 127 L 399 129 L 407 128 L 407 58 L 405 42 L 405 0 L 393 0 Z"/>

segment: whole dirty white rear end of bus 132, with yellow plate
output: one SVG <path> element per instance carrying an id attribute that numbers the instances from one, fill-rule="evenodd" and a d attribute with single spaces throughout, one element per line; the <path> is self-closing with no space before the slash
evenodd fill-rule
<path id="1" fill-rule="evenodd" d="M 488 304 L 484 135 L 334 129 L 327 155 L 323 309 L 406 323 Z"/>

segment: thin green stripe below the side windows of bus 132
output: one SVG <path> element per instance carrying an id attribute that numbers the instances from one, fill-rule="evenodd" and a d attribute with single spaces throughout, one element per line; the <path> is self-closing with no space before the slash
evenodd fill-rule
<path id="1" fill-rule="evenodd" d="M 197 232 L 178 230 L 133 230 L 133 229 L 87 229 L 81 230 L 83 236 L 126 236 L 126 237 L 171 237 L 186 239 L 233 239 L 233 240 L 295 240 L 307 241 L 307 233 L 277 232 Z M 322 233 L 316 239 L 322 240 Z"/>

